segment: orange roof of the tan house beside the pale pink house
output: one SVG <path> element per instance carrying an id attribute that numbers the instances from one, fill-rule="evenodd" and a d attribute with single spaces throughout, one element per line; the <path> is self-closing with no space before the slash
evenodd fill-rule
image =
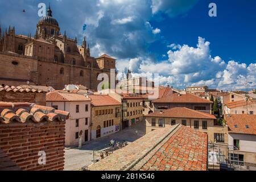
<path id="1" fill-rule="evenodd" d="M 107 95 L 89 95 L 89 98 L 93 106 L 121 105 L 121 102 Z"/>

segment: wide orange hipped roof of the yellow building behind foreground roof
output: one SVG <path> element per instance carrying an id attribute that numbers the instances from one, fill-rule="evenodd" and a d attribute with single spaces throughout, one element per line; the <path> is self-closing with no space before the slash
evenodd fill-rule
<path id="1" fill-rule="evenodd" d="M 163 118 L 193 118 L 193 119 L 216 119 L 212 114 L 203 113 L 201 111 L 188 109 L 186 107 L 174 107 L 144 115 L 145 117 L 163 117 Z"/>

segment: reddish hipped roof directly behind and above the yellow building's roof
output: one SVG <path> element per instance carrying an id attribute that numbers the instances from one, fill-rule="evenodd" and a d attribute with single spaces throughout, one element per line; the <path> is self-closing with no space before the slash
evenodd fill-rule
<path id="1" fill-rule="evenodd" d="M 155 103 L 205 103 L 211 104 L 212 101 L 205 100 L 195 94 L 186 92 L 185 94 L 174 93 L 171 96 L 166 96 L 153 101 Z"/>

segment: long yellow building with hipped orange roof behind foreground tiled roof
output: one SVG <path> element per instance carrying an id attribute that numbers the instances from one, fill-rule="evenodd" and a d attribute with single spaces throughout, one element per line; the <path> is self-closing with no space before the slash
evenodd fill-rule
<path id="1" fill-rule="evenodd" d="M 228 143 L 228 127 L 217 125 L 216 117 L 212 114 L 203 113 L 185 107 L 159 111 L 145 115 L 146 133 L 168 125 L 181 124 L 192 129 L 208 134 L 208 142 L 220 144 Z"/>

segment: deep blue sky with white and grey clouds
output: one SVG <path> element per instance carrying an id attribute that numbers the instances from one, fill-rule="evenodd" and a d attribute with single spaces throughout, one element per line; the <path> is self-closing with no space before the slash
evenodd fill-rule
<path id="1" fill-rule="evenodd" d="M 92 56 L 115 57 L 119 76 L 130 68 L 180 89 L 256 88 L 254 0 L 0 0 L 2 30 L 34 34 L 40 2 L 51 2 L 62 33 L 80 44 L 86 35 Z M 217 17 L 208 15 L 211 2 Z"/>

